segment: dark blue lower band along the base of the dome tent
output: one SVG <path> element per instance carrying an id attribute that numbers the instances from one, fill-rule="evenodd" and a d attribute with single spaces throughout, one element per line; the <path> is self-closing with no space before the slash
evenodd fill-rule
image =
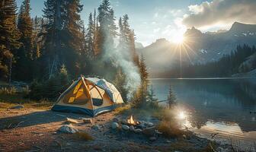
<path id="1" fill-rule="evenodd" d="M 108 112 L 113 110 L 115 107 L 112 106 L 104 106 L 102 108 L 98 109 L 85 109 L 80 107 L 74 107 L 74 106 L 61 106 L 61 105 L 54 105 L 52 110 L 57 112 L 73 112 L 73 113 L 81 113 L 86 114 L 88 116 L 96 116 L 102 112 Z"/>

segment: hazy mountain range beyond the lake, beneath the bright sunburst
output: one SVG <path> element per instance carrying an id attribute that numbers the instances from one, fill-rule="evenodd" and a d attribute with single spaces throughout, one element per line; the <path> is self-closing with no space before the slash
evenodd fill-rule
<path id="1" fill-rule="evenodd" d="M 138 52 L 146 58 L 152 77 L 181 65 L 194 65 L 219 60 L 238 45 L 256 45 L 256 25 L 235 22 L 229 30 L 202 33 L 195 27 L 184 33 L 184 43 L 156 40 Z"/>

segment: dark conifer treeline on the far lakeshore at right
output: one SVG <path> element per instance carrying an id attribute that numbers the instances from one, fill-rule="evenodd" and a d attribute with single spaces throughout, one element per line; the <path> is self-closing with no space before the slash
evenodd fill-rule
<path id="1" fill-rule="evenodd" d="M 254 53 L 256 53 L 255 46 L 237 46 L 230 55 L 223 55 L 216 62 L 177 67 L 171 70 L 168 75 L 171 78 L 230 77 L 232 74 L 244 73 L 256 68 L 256 59 L 254 62 L 245 64 L 248 57 L 256 57 L 252 56 Z"/>

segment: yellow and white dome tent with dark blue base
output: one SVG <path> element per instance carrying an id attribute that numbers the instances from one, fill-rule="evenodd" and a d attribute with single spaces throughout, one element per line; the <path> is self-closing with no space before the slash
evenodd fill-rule
<path id="1" fill-rule="evenodd" d="M 104 79 L 81 76 L 60 95 L 52 110 L 96 116 L 113 110 L 120 103 L 123 99 L 113 84 Z"/>

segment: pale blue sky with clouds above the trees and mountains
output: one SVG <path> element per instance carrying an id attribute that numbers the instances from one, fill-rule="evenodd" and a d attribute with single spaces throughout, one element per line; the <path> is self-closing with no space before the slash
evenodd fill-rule
<path id="1" fill-rule="evenodd" d="M 23 0 L 17 0 L 18 7 Z M 44 0 L 30 0 L 31 16 L 41 16 Z M 81 0 L 81 17 L 88 23 L 88 14 L 101 0 Z M 159 38 L 175 41 L 187 28 L 203 32 L 228 30 L 235 21 L 256 24 L 256 0 L 110 0 L 118 18 L 130 17 L 136 41 L 144 46 Z"/>

